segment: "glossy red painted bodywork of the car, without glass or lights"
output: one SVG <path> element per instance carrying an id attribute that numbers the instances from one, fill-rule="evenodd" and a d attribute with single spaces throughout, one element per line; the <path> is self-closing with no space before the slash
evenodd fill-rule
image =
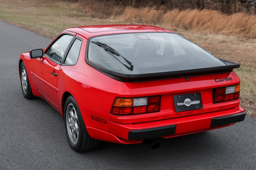
<path id="1" fill-rule="evenodd" d="M 26 66 L 33 94 L 45 99 L 63 115 L 62 103 L 65 103 L 65 101 L 63 102 L 63 96 L 65 92 L 70 93 L 76 99 L 87 131 L 92 138 L 122 144 L 142 142 L 142 140 L 128 141 L 129 130 L 177 124 L 174 135 L 163 137 L 172 138 L 220 128 L 210 128 L 212 117 L 244 111 L 239 106 L 240 99 L 216 104 L 213 104 L 212 101 L 213 88 L 240 83 L 240 79 L 235 72 L 192 76 L 189 77 L 189 81 L 186 81 L 185 78 L 175 78 L 144 82 L 120 82 L 102 74 L 85 62 L 87 39 L 97 35 L 128 32 L 172 31 L 147 25 L 96 25 L 66 29 L 60 34 L 71 33 L 83 40 L 76 65 L 60 66 L 46 57 L 31 59 L 28 52 L 20 55 L 20 60 L 23 60 Z M 51 71 L 58 75 L 52 76 Z M 232 80 L 215 82 L 217 77 L 231 77 Z M 201 93 L 203 109 L 175 112 L 174 95 L 197 92 Z M 110 114 L 116 97 L 132 98 L 157 95 L 161 95 L 159 112 L 131 116 Z M 235 96 L 239 96 L 239 93 L 236 93 Z M 225 96 L 225 99 L 219 100 L 228 100 L 229 97 Z M 156 103 L 157 101 L 156 98 L 148 99 L 149 103 Z M 154 111 L 157 110 L 157 107 L 159 105 L 148 106 L 147 108 L 138 107 L 135 113 L 145 112 L 146 109 Z M 124 111 L 127 112 L 129 109 Z M 92 115 L 98 121 L 92 120 Z M 106 120 L 106 124 L 103 120 Z"/>

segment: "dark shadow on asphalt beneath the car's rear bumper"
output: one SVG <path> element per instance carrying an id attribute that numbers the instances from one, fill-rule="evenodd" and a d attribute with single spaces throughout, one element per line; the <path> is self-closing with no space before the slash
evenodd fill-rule
<path id="1" fill-rule="evenodd" d="M 222 135 L 220 135 L 221 138 Z M 116 159 L 120 161 L 140 162 L 141 164 L 147 164 L 148 161 L 162 162 L 163 160 L 173 161 L 187 161 L 188 159 L 207 159 L 210 155 L 225 153 L 221 144 L 217 144 L 218 137 L 211 131 L 200 132 L 196 134 L 190 134 L 186 136 L 180 136 L 176 138 L 157 138 L 156 141 L 160 142 L 158 149 L 151 149 L 145 144 L 133 144 L 123 145 L 109 142 L 101 142 L 100 147 L 92 152 L 85 152 L 84 155 L 94 155 L 100 159 L 100 157 Z"/>

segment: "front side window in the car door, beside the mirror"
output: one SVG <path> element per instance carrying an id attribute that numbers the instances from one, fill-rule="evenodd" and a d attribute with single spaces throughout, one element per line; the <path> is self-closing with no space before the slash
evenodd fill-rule
<path id="1" fill-rule="evenodd" d="M 69 42 L 74 36 L 62 35 L 53 45 L 48 49 L 47 55 L 57 62 L 61 62 L 61 59 L 68 47 Z"/>

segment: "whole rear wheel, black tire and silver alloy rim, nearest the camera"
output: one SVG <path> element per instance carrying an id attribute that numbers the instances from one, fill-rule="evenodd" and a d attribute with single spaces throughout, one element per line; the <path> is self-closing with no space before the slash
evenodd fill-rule
<path id="1" fill-rule="evenodd" d="M 68 143 L 76 152 L 92 151 L 99 147 L 100 141 L 92 139 L 88 134 L 73 96 L 69 96 L 65 103 L 64 124 Z"/>

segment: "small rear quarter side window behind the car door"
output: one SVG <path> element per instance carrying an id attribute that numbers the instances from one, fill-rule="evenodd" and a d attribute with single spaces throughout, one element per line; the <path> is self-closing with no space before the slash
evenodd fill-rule
<path id="1" fill-rule="evenodd" d="M 73 45 L 71 46 L 67 58 L 64 61 L 64 64 L 76 64 L 78 57 L 79 57 L 79 53 L 80 53 L 80 49 L 81 49 L 81 45 L 82 45 L 82 41 L 79 39 L 76 39 L 73 43 Z"/>

